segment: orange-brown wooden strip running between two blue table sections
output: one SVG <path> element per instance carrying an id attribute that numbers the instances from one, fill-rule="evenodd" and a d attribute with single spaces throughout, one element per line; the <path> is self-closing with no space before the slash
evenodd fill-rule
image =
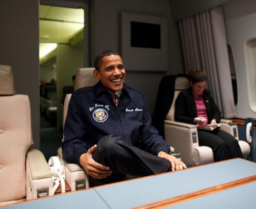
<path id="1" fill-rule="evenodd" d="M 253 175 L 253 176 L 250 176 L 250 177 L 247 177 L 247 178 L 242 178 L 242 179 L 239 179 L 239 180 L 236 180 L 236 181 L 231 181 L 231 182 L 228 182 L 228 183 L 225 183 L 225 184 L 220 184 L 220 185 L 217 185 L 217 186 L 212 186 L 212 187 L 209 187 L 207 189 L 202 189 L 202 190 L 199 190 L 199 191 L 196 191 L 196 192 L 191 192 L 191 193 L 188 193 L 188 194 L 185 194 L 185 195 L 180 195 L 180 196 L 177 196 L 177 197 L 174 197 L 174 198 L 169 198 L 169 199 L 166 199 L 166 200 L 163 200 L 163 201 L 157 201 L 155 203 L 150 203 L 150 204 L 146 204 L 146 205 L 143 205 L 143 206 L 135 207 L 135 209 L 163 208 L 163 207 L 166 207 L 166 206 L 174 205 L 174 204 L 177 204 L 177 203 L 181 203 L 181 202 L 184 202 L 184 201 L 189 201 L 189 200 L 192 200 L 192 199 L 195 199 L 195 198 L 199 198 L 199 197 L 202 197 L 202 196 L 205 196 L 205 195 L 209 195 L 209 194 L 212 194 L 212 193 L 215 193 L 215 192 L 220 192 L 222 190 L 230 189 L 230 188 L 233 188 L 235 186 L 248 184 L 248 183 L 253 182 L 253 181 L 256 181 L 256 175 Z"/>

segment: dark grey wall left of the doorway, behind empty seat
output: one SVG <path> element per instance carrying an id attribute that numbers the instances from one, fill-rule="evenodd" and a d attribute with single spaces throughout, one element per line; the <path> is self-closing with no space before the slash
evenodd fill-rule
<path id="1" fill-rule="evenodd" d="M 38 17 L 38 1 L 0 1 L 0 64 L 13 67 L 16 93 L 29 96 L 35 148 L 40 146 Z"/>

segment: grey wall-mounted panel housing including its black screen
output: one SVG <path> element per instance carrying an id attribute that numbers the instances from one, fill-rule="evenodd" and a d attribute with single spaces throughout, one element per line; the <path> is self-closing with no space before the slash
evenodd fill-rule
<path id="1" fill-rule="evenodd" d="M 121 56 L 125 70 L 167 71 L 167 18 L 122 12 L 121 21 Z"/>

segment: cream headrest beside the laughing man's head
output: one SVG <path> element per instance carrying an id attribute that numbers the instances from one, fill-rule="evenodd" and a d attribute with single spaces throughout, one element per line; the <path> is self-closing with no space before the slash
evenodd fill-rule
<path id="1" fill-rule="evenodd" d="M 76 71 L 75 90 L 95 85 L 98 80 L 93 75 L 95 68 L 78 68 Z"/>

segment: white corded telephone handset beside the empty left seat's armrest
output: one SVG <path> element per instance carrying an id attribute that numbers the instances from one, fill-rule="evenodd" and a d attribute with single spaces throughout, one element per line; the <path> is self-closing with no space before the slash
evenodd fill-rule
<path id="1" fill-rule="evenodd" d="M 61 165 L 61 162 L 57 156 L 53 156 L 49 159 L 48 165 L 52 172 L 52 181 L 55 182 L 55 185 L 52 188 L 52 191 L 50 192 L 49 196 L 54 195 L 56 189 L 59 186 L 59 181 L 61 182 L 61 194 L 66 192 L 65 189 L 65 181 L 66 175 L 65 175 L 65 169 L 63 165 Z"/>

